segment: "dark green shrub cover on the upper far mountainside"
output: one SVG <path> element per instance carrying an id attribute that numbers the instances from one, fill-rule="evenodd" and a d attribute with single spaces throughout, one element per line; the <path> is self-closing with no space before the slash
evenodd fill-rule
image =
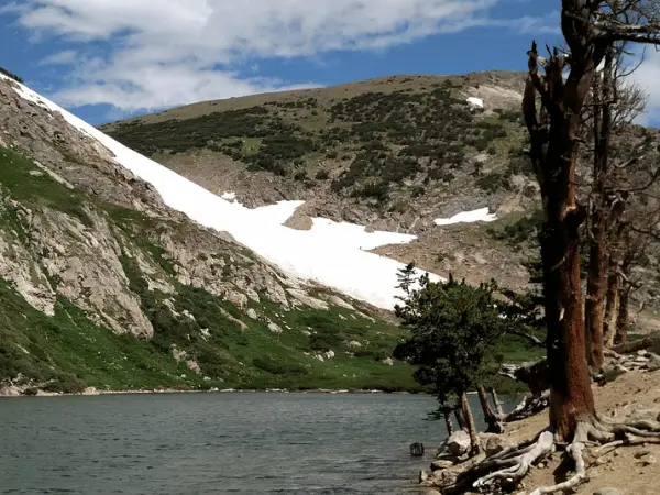
<path id="1" fill-rule="evenodd" d="M 119 122 L 107 132 L 147 155 L 208 148 L 307 187 L 315 186 L 308 176 L 330 179 L 326 170 L 317 172 L 319 158 L 339 160 L 348 167 L 332 179 L 332 189 L 381 208 L 406 179 L 449 183 L 475 153 L 488 150 L 506 160 L 509 147 L 520 147 L 518 117 L 470 110 L 457 91 L 461 87 L 448 79 L 416 90 L 370 90 L 323 101 L 297 96 L 189 119 Z M 522 166 L 510 162 L 505 176 L 484 177 L 480 187 L 508 188 L 504 177 Z"/>

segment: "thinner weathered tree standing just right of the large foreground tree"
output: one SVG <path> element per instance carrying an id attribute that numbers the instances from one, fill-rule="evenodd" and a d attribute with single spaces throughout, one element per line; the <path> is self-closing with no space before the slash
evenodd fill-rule
<path id="1" fill-rule="evenodd" d="M 636 175 L 635 167 L 640 163 L 640 151 L 631 148 L 630 140 L 634 121 L 644 111 L 646 102 L 640 88 L 626 80 L 637 68 L 626 66 L 626 42 L 612 43 L 607 47 L 583 109 L 585 134 L 591 133 L 593 139 L 593 147 L 587 150 L 592 170 L 586 229 L 585 330 L 587 361 L 597 371 L 603 367 L 604 344 L 610 341 L 604 338 L 604 328 L 610 329 L 605 315 L 607 311 L 612 315 L 616 304 L 615 299 L 610 299 L 609 306 L 606 306 L 606 296 L 619 285 L 617 276 L 608 277 L 609 268 L 619 262 L 618 253 L 612 251 L 620 233 L 612 226 L 625 211 L 628 195 L 624 185 L 628 177 Z"/>

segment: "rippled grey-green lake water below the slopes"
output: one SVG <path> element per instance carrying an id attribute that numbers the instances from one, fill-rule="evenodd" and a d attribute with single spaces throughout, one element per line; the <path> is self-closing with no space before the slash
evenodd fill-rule
<path id="1" fill-rule="evenodd" d="M 424 420 L 433 407 L 380 394 L 0 399 L 0 493 L 417 495 L 443 439 Z"/>

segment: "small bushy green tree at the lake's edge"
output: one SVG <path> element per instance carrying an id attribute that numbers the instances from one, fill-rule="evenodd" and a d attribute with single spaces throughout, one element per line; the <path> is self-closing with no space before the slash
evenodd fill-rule
<path id="1" fill-rule="evenodd" d="M 409 280 L 409 274 L 410 268 L 408 276 L 403 271 L 402 279 Z M 422 275 L 419 288 L 404 290 L 405 305 L 397 305 L 395 312 L 411 336 L 397 345 L 395 356 L 418 366 L 415 380 L 435 387 L 447 416 L 450 397 L 459 398 L 472 454 L 476 454 L 480 446 L 466 393 L 495 376 L 502 363 L 495 348 L 505 324 L 494 298 L 495 284 L 473 287 L 451 275 L 447 282 L 433 283 Z"/>

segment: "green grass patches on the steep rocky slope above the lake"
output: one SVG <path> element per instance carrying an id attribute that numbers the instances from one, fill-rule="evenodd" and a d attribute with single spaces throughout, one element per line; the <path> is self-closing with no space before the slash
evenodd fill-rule
<path id="1" fill-rule="evenodd" d="M 154 220 L 116 206 L 95 205 L 86 195 L 69 190 L 46 175 L 33 176 L 34 164 L 19 154 L 0 148 L 0 186 L 14 200 L 33 211 L 53 208 L 85 222 L 84 207 L 105 210 L 114 220 L 118 232 L 134 249 L 142 250 L 174 273 L 163 249 L 148 241 Z M 142 235 L 131 231 L 138 227 Z M 0 210 L 0 229 L 8 237 L 29 243 L 30 232 L 11 209 Z M 151 292 L 130 256 L 123 256 L 131 289 L 155 330 L 150 341 L 118 336 L 94 323 L 70 301 L 59 298 L 54 317 L 37 311 L 0 278 L 0 380 L 23 375 L 45 384 L 48 389 L 79 391 L 85 386 L 106 389 L 172 388 L 351 388 L 417 389 L 411 367 L 380 361 L 392 354 L 403 331 L 385 322 L 373 322 L 354 311 L 310 308 L 283 311 L 263 298 L 260 312 L 267 315 L 285 331 L 271 332 L 232 304 L 178 284 L 174 305 L 177 312 L 189 311 L 195 320 L 174 316 L 163 300 L 165 295 Z M 241 327 L 226 315 L 248 323 Z M 202 336 L 201 329 L 210 336 Z M 311 331 L 307 336 L 304 331 Z M 345 341 L 358 340 L 363 348 L 345 353 Z M 172 358 L 170 345 L 185 350 L 202 373 L 193 373 Z M 506 345 L 507 358 L 528 359 L 521 342 Z M 332 349 L 336 358 L 320 362 L 311 351 Z M 205 380 L 207 376 L 210 380 Z"/>

